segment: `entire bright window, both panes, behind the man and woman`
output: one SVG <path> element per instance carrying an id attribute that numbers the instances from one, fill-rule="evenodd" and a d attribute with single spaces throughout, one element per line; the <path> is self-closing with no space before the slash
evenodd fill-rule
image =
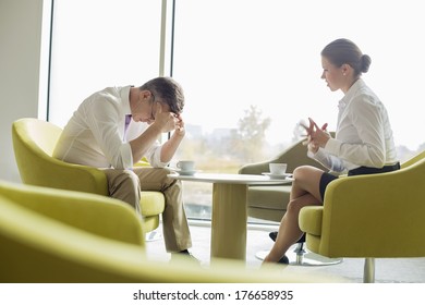
<path id="1" fill-rule="evenodd" d="M 160 2 L 54 1 L 51 121 L 63 125 L 94 90 L 158 75 Z M 424 141 L 414 132 L 425 129 L 418 111 L 425 68 L 420 3 L 175 0 L 168 68 L 184 87 L 187 125 L 175 160 L 236 172 L 289 145 L 301 119 L 333 130 L 342 95 L 320 80 L 319 53 L 341 37 L 372 57 L 364 80 L 387 106 L 400 159 L 422 150 Z M 190 217 L 209 218 L 210 185 L 184 185 Z"/>

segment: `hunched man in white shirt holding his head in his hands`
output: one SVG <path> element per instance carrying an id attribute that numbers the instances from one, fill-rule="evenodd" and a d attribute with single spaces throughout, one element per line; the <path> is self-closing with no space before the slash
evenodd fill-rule
<path id="1" fill-rule="evenodd" d="M 182 87 L 171 77 L 157 77 L 141 87 L 108 87 L 86 98 L 74 112 L 53 156 L 66 162 L 104 169 L 111 197 L 141 213 L 141 190 L 160 191 L 167 252 L 189 254 L 191 234 L 181 182 L 167 178 L 181 144 L 184 121 Z M 162 145 L 158 138 L 172 132 Z M 153 168 L 133 168 L 145 157 Z"/>

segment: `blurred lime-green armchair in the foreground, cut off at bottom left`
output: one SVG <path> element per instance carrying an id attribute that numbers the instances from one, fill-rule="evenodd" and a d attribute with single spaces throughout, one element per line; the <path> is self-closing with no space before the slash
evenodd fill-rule
<path id="1" fill-rule="evenodd" d="M 126 204 L 106 196 L 0 181 L 0 282 L 201 283 L 340 282 L 339 277 L 246 268 L 187 258 L 149 260 L 143 227 Z"/>

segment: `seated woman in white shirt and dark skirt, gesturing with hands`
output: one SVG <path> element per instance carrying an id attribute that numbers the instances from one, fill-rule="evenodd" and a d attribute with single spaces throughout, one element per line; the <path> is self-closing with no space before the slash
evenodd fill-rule
<path id="1" fill-rule="evenodd" d="M 307 155 L 332 172 L 372 174 L 398 170 L 392 131 L 387 111 L 379 98 L 361 78 L 371 65 L 371 58 L 348 39 L 337 39 L 321 51 L 321 78 L 331 91 L 341 90 L 336 137 L 331 138 L 325 124 L 318 127 L 309 120 Z M 284 253 L 303 232 L 299 213 L 305 206 L 321 205 L 326 186 L 338 176 L 317 168 L 303 166 L 293 172 L 290 202 L 283 216 L 276 243 L 264 263 L 288 264 Z"/>

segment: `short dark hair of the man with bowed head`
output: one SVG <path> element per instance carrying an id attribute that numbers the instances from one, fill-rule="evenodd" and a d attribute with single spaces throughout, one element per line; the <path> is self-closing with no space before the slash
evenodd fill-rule
<path id="1" fill-rule="evenodd" d="M 171 112 L 181 113 L 184 108 L 183 88 L 171 77 L 156 77 L 141 86 L 142 90 L 149 90 L 155 98 L 166 102 Z"/>

